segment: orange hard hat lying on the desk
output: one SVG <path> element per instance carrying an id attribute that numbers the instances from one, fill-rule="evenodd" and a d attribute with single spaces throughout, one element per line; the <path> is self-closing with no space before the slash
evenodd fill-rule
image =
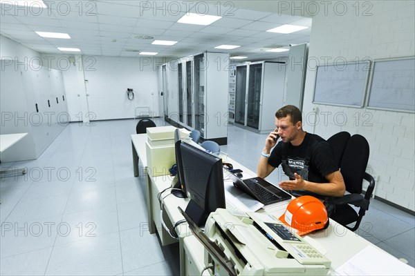
<path id="1" fill-rule="evenodd" d="M 326 207 L 311 195 L 293 199 L 279 220 L 300 236 L 329 226 Z"/>

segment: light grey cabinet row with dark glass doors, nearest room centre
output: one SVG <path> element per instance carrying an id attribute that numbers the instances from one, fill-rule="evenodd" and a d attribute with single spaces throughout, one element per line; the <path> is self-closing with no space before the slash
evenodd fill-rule
<path id="1" fill-rule="evenodd" d="M 201 140 L 228 143 L 229 54 L 202 52 L 162 66 L 167 83 L 165 119 L 175 126 L 199 130 Z M 164 80 L 166 78 L 167 80 Z M 167 97 L 166 97 L 167 96 Z"/>

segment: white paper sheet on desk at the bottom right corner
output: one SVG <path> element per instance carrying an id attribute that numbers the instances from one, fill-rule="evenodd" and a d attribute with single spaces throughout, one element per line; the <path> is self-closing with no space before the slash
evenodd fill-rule
<path id="1" fill-rule="evenodd" d="M 400 262 L 396 257 L 385 253 L 374 246 L 366 246 L 338 269 L 338 276 L 414 276 L 415 268 Z"/>

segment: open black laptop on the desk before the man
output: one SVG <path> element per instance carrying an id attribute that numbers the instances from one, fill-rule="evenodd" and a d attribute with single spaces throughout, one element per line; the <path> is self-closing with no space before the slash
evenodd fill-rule
<path id="1" fill-rule="evenodd" d="M 291 199 L 289 193 L 270 184 L 270 182 L 261 177 L 241 179 L 232 174 L 231 178 L 235 187 L 247 193 L 254 199 L 257 199 L 261 204 L 268 205 Z"/>

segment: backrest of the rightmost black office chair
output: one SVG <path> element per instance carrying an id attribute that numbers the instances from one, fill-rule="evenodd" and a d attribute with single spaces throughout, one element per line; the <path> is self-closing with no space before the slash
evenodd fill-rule
<path id="1" fill-rule="evenodd" d="M 362 135 L 350 137 L 344 148 L 340 172 L 349 193 L 362 193 L 362 182 L 369 160 L 369 143 Z"/>

